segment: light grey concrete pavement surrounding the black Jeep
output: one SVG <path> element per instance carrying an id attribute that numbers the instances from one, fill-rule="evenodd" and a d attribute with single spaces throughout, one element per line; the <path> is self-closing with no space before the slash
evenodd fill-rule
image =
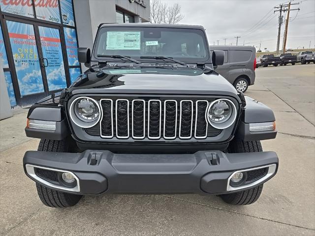
<path id="1" fill-rule="evenodd" d="M 276 177 L 259 200 L 230 206 L 216 196 L 85 196 L 75 207 L 45 207 L 22 158 L 37 139 L 24 133 L 27 109 L 0 121 L 0 235 L 315 235 L 315 65 L 256 69 L 246 92 L 276 116 Z"/>

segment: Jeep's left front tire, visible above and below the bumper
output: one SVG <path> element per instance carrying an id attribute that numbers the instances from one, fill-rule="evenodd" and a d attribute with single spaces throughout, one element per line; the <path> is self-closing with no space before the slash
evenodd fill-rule
<path id="1" fill-rule="evenodd" d="M 67 152 L 70 151 L 69 145 L 71 141 L 68 140 L 49 140 L 41 139 L 38 145 L 38 151 L 50 152 Z M 47 207 L 72 207 L 76 205 L 82 195 L 64 193 L 51 188 L 48 188 L 36 182 L 37 194 L 40 201 Z"/>

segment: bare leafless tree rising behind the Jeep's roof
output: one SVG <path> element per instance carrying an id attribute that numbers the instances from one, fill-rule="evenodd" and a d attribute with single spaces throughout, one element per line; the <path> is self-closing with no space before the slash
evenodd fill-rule
<path id="1" fill-rule="evenodd" d="M 151 0 L 150 8 L 151 23 L 177 24 L 185 17 L 181 13 L 181 5 L 178 3 L 169 6 L 161 0 Z"/>

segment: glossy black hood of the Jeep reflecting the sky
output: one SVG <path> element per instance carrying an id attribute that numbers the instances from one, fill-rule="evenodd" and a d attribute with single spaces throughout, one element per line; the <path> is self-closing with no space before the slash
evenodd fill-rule
<path id="1" fill-rule="evenodd" d="M 105 70 L 106 71 L 106 70 Z M 89 69 L 68 89 L 72 94 L 134 93 L 134 94 L 195 94 L 237 96 L 236 89 L 215 71 L 197 75 L 180 73 L 110 74 Z"/>

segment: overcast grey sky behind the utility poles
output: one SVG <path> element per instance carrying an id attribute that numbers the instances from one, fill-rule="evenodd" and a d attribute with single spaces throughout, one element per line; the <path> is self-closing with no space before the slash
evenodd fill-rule
<path id="1" fill-rule="evenodd" d="M 206 29 L 209 44 L 224 45 L 223 38 L 227 38 L 226 45 L 236 45 L 234 36 L 241 36 L 238 45 L 258 46 L 261 49 L 276 50 L 278 35 L 279 12 L 273 13 L 273 8 L 287 0 L 164 0 L 168 4 L 180 3 L 185 18 L 180 24 L 201 25 Z M 286 48 L 297 47 L 315 48 L 315 0 L 293 0 L 288 25 L 288 39 Z M 269 12 L 269 13 L 268 13 Z M 297 14 L 298 12 L 298 14 Z M 297 16 L 296 16 L 297 14 Z M 252 26 L 260 22 L 252 30 Z M 296 18 L 295 18 L 296 16 Z M 295 18 L 295 19 L 294 19 Z M 294 20 L 293 20 L 294 19 Z M 250 31 L 248 31 L 250 30 Z M 284 24 L 281 30 L 280 48 L 283 43 Z M 264 50 L 263 50 L 264 51 Z"/>

